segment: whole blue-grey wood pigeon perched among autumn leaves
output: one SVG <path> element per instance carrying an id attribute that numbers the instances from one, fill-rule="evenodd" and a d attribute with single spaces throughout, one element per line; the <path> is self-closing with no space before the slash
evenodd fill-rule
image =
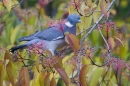
<path id="1" fill-rule="evenodd" d="M 19 38 L 19 42 L 26 41 L 26 43 L 12 47 L 10 51 L 14 53 L 18 49 L 27 48 L 29 46 L 33 46 L 33 44 L 42 43 L 40 48 L 49 50 L 52 56 L 54 56 L 57 49 L 68 45 L 65 41 L 64 33 L 67 32 L 76 35 L 76 24 L 80 22 L 81 19 L 78 14 L 70 14 L 63 24 L 57 24 L 42 31 L 35 32 L 29 36 Z"/>

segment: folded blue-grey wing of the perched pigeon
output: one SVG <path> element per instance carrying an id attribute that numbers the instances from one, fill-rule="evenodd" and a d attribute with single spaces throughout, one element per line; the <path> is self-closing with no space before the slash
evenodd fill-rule
<path id="1" fill-rule="evenodd" d="M 52 41 L 52 40 L 57 40 L 61 38 L 64 38 L 63 32 L 60 30 L 56 30 L 55 27 L 51 27 L 46 30 L 36 32 L 32 35 L 20 38 L 19 41 L 30 41 L 33 39 L 42 39 L 42 40 Z"/>

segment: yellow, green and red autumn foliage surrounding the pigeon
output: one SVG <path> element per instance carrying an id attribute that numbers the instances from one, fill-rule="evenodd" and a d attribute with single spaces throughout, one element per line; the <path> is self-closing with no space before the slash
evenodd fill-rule
<path id="1" fill-rule="evenodd" d="M 0 86 L 129 86 L 129 18 L 114 20 L 116 1 L 0 1 Z M 76 35 L 64 33 L 68 46 L 55 56 L 40 44 L 10 53 L 20 37 L 63 24 L 71 13 L 82 23 Z"/>

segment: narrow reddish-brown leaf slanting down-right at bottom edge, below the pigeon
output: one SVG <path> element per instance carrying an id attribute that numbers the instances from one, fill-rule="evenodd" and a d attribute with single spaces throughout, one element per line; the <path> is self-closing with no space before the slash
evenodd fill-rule
<path id="1" fill-rule="evenodd" d="M 56 71 L 60 74 L 61 78 L 63 79 L 63 81 L 65 83 L 65 85 L 69 86 L 69 77 L 66 74 L 66 72 L 61 68 L 56 69 Z"/>

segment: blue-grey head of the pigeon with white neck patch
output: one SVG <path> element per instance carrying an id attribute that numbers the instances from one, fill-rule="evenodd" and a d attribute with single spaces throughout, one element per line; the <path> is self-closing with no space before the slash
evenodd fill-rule
<path id="1" fill-rule="evenodd" d="M 76 25 L 76 23 L 79 23 L 79 22 L 81 22 L 79 15 L 77 15 L 77 14 L 70 14 L 70 15 L 67 17 L 65 24 L 66 24 L 68 27 L 72 27 L 72 26 Z"/>

